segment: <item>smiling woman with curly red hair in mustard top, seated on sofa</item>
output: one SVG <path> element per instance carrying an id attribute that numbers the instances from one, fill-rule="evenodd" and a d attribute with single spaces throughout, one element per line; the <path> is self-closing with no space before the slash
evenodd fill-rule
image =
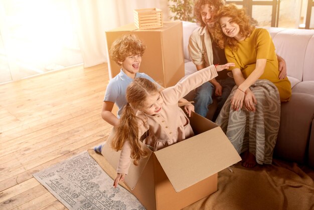
<path id="1" fill-rule="evenodd" d="M 242 165 L 271 164 L 280 123 L 280 101 L 291 84 L 278 78 L 275 47 L 266 29 L 255 28 L 244 9 L 225 5 L 217 13 L 214 38 L 225 49 L 236 86 L 217 118 Z"/>

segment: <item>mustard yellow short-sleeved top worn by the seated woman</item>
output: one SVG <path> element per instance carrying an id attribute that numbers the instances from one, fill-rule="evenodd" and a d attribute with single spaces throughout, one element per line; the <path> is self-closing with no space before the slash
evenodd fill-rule
<path id="1" fill-rule="evenodd" d="M 244 78 L 247 78 L 255 69 L 257 59 L 266 59 L 264 73 L 259 79 L 267 79 L 274 83 L 280 95 L 280 101 L 288 101 L 291 97 L 291 84 L 287 77 L 279 79 L 278 60 L 275 46 L 266 29 L 254 29 L 252 34 L 243 41 L 238 42 L 238 50 L 232 51 L 229 46 L 225 48 L 228 62 L 235 63 L 240 68 Z"/>

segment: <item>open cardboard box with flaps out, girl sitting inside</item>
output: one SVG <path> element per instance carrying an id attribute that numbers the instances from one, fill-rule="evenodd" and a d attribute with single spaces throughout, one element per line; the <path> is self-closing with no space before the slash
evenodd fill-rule
<path id="1" fill-rule="evenodd" d="M 192 113 L 195 136 L 131 164 L 124 183 L 146 209 L 181 209 L 217 191 L 217 173 L 241 160 L 221 128 Z M 112 136 L 111 136 L 112 137 Z M 110 148 L 102 155 L 117 168 L 120 152 Z"/>

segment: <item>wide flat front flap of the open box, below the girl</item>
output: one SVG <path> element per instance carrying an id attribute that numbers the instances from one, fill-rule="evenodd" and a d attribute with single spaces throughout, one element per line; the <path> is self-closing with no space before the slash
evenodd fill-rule
<path id="1" fill-rule="evenodd" d="M 154 153 L 177 192 L 241 160 L 220 127 Z"/>

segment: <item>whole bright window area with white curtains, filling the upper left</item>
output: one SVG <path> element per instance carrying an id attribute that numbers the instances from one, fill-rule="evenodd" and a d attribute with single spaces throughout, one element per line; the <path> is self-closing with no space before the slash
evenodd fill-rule
<path id="1" fill-rule="evenodd" d="M 107 62 L 105 31 L 132 23 L 134 9 L 167 13 L 167 2 L 0 0 L 0 83 Z"/>

